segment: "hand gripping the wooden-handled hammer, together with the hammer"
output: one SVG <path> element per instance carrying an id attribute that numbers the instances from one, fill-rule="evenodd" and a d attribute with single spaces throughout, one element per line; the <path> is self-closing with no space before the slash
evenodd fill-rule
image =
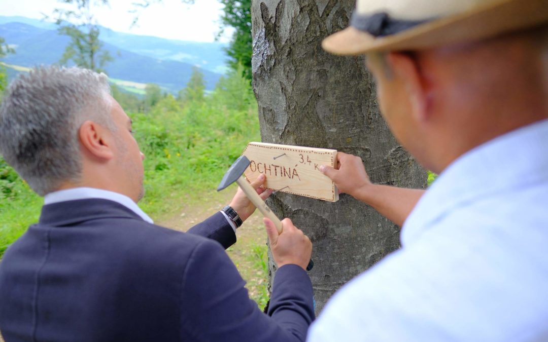
<path id="1" fill-rule="evenodd" d="M 248 183 L 246 178 L 243 177 L 243 172 L 248 166 L 249 159 L 247 159 L 245 155 L 239 157 L 225 173 L 217 191 L 225 189 L 230 184 L 236 182 L 246 194 L 247 198 L 259 209 L 262 215 L 265 216 L 264 223 L 269 235 L 270 248 L 278 267 L 281 267 L 284 264 L 298 264 L 302 268 L 305 268 L 306 260 L 304 260 L 304 262 L 302 260 L 303 258 L 307 258 L 310 261 L 306 266 L 306 270 L 310 271 L 314 265 L 310 259 L 310 254 L 312 252 L 310 239 L 304 235 L 300 229 L 296 228 L 290 219 L 284 219 L 283 224 L 282 221 L 279 221 L 276 215 L 274 215 L 266 203 L 260 198 L 255 189 Z M 272 229 L 272 226 L 276 229 Z"/>

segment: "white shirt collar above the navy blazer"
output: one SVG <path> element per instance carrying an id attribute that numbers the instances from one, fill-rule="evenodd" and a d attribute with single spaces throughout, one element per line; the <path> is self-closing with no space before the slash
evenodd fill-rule
<path id="1" fill-rule="evenodd" d="M 130 199 L 128 196 L 115 193 L 109 190 L 96 189 L 96 188 L 71 188 L 66 190 L 59 190 L 53 193 L 49 193 L 44 196 L 44 205 L 73 201 L 73 200 L 83 200 L 83 199 L 92 199 L 100 198 L 105 200 L 115 201 L 124 207 L 127 207 L 129 210 L 133 211 L 139 215 L 144 221 L 149 223 L 154 223 L 152 219 L 146 215 L 144 211 L 139 208 L 135 202 Z"/>

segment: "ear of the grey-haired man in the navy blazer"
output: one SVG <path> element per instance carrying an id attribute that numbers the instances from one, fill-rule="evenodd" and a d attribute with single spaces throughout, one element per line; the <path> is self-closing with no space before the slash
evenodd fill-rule
<path id="1" fill-rule="evenodd" d="M 82 147 L 95 158 L 110 160 L 113 158 L 109 131 L 93 121 L 85 121 L 78 129 L 78 137 Z"/>

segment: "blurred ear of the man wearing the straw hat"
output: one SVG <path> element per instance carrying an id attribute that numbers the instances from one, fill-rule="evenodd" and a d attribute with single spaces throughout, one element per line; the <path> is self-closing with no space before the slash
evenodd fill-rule
<path id="1" fill-rule="evenodd" d="M 419 122 L 429 119 L 430 89 L 427 88 L 427 82 L 423 79 L 418 62 L 413 57 L 402 53 L 389 53 L 387 62 L 396 77 L 403 83 L 413 118 Z"/>

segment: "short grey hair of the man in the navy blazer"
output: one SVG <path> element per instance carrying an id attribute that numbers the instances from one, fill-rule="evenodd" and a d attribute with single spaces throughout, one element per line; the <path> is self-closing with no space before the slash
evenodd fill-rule
<path id="1" fill-rule="evenodd" d="M 93 120 L 115 130 L 104 73 L 38 67 L 10 84 L 0 106 L 0 154 L 38 195 L 78 182 L 78 129 Z"/>

